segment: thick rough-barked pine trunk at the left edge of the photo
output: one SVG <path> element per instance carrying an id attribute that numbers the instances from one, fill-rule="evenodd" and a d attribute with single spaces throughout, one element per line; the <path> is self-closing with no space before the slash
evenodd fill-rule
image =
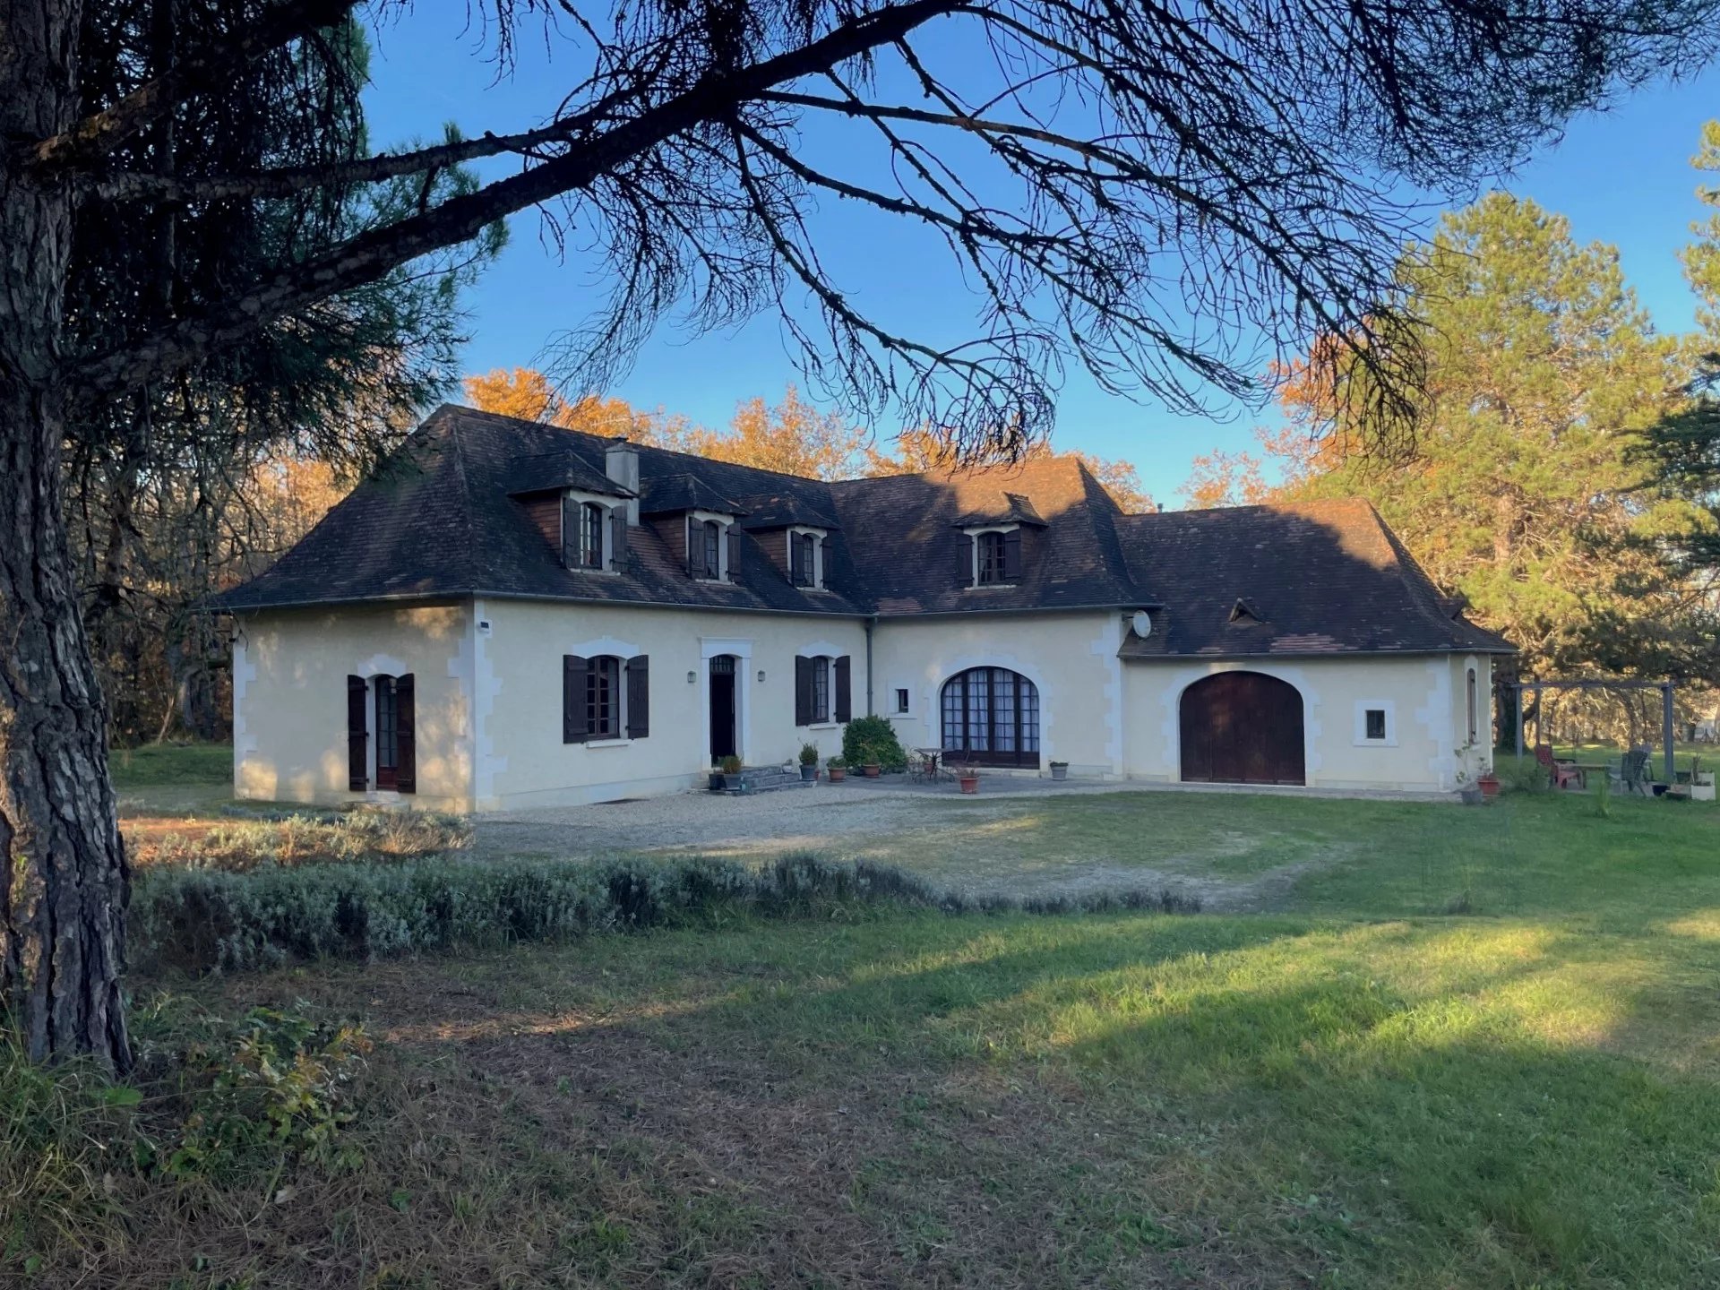
<path id="1" fill-rule="evenodd" d="M 0 0 L 0 139 L 74 120 L 79 9 Z M 126 851 L 60 497 L 72 206 L 0 153 L 0 1006 L 33 1060 L 131 1065 Z"/>

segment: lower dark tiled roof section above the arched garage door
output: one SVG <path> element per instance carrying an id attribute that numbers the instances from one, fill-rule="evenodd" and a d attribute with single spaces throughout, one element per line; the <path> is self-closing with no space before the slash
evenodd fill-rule
<path id="1" fill-rule="evenodd" d="M 1508 652 L 1441 597 L 1362 501 L 1121 516 L 1130 568 L 1164 602 L 1125 659 Z"/>

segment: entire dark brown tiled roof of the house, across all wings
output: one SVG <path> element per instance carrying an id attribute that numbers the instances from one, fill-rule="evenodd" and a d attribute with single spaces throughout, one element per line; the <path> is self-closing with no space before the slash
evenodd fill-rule
<path id="1" fill-rule="evenodd" d="M 1151 607 L 1125 657 L 1508 650 L 1443 600 L 1366 502 L 1125 516 L 1070 458 L 824 483 L 638 447 L 642 513 L 746 516 L 736 583 L 703 583 L 650 525 L 628 531 L 623 574 L 562 568 L 518 494 L 607 480 L 611 440 L 437 409 L 268 573 L 217 599 L 263 609 L 461 595 L 817 614 Z M 750 513 L 750 514 L 748 514 Z M 1022 578 L 956 578 L 958 523 L 1020 523 Z M 827 590 L 789 585 L 771 528 L 826 528 Z M 779 552 L 774 552 L 779 554 Z M 1250 614 L 1232 623 L 1244 602 Z"/>

